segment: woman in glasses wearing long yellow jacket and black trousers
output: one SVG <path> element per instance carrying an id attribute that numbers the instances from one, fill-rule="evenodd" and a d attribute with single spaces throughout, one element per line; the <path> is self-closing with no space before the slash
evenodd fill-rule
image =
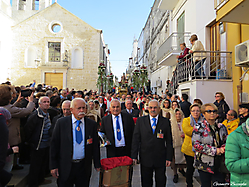
<path id="1" fill-rule="evenodd" d="M 190 116 L 188 118 L 184 118 L 182 122 L 182 130 L 185 134 L 184 142 L 182 144 L 181 151 L 184 153 L 186 163 L 187 163 L 187 171 L 186 171 L 186 183 L 187 187 L 193 187 L 193 174 L 194 174 L 194 156 L 195 153 L 192 149 L 192 133 L 194 129 L 194 125 L 197 123 L 201 123 L 201 106 L 199 104 L 193 104 L 190 106 Z"/>

